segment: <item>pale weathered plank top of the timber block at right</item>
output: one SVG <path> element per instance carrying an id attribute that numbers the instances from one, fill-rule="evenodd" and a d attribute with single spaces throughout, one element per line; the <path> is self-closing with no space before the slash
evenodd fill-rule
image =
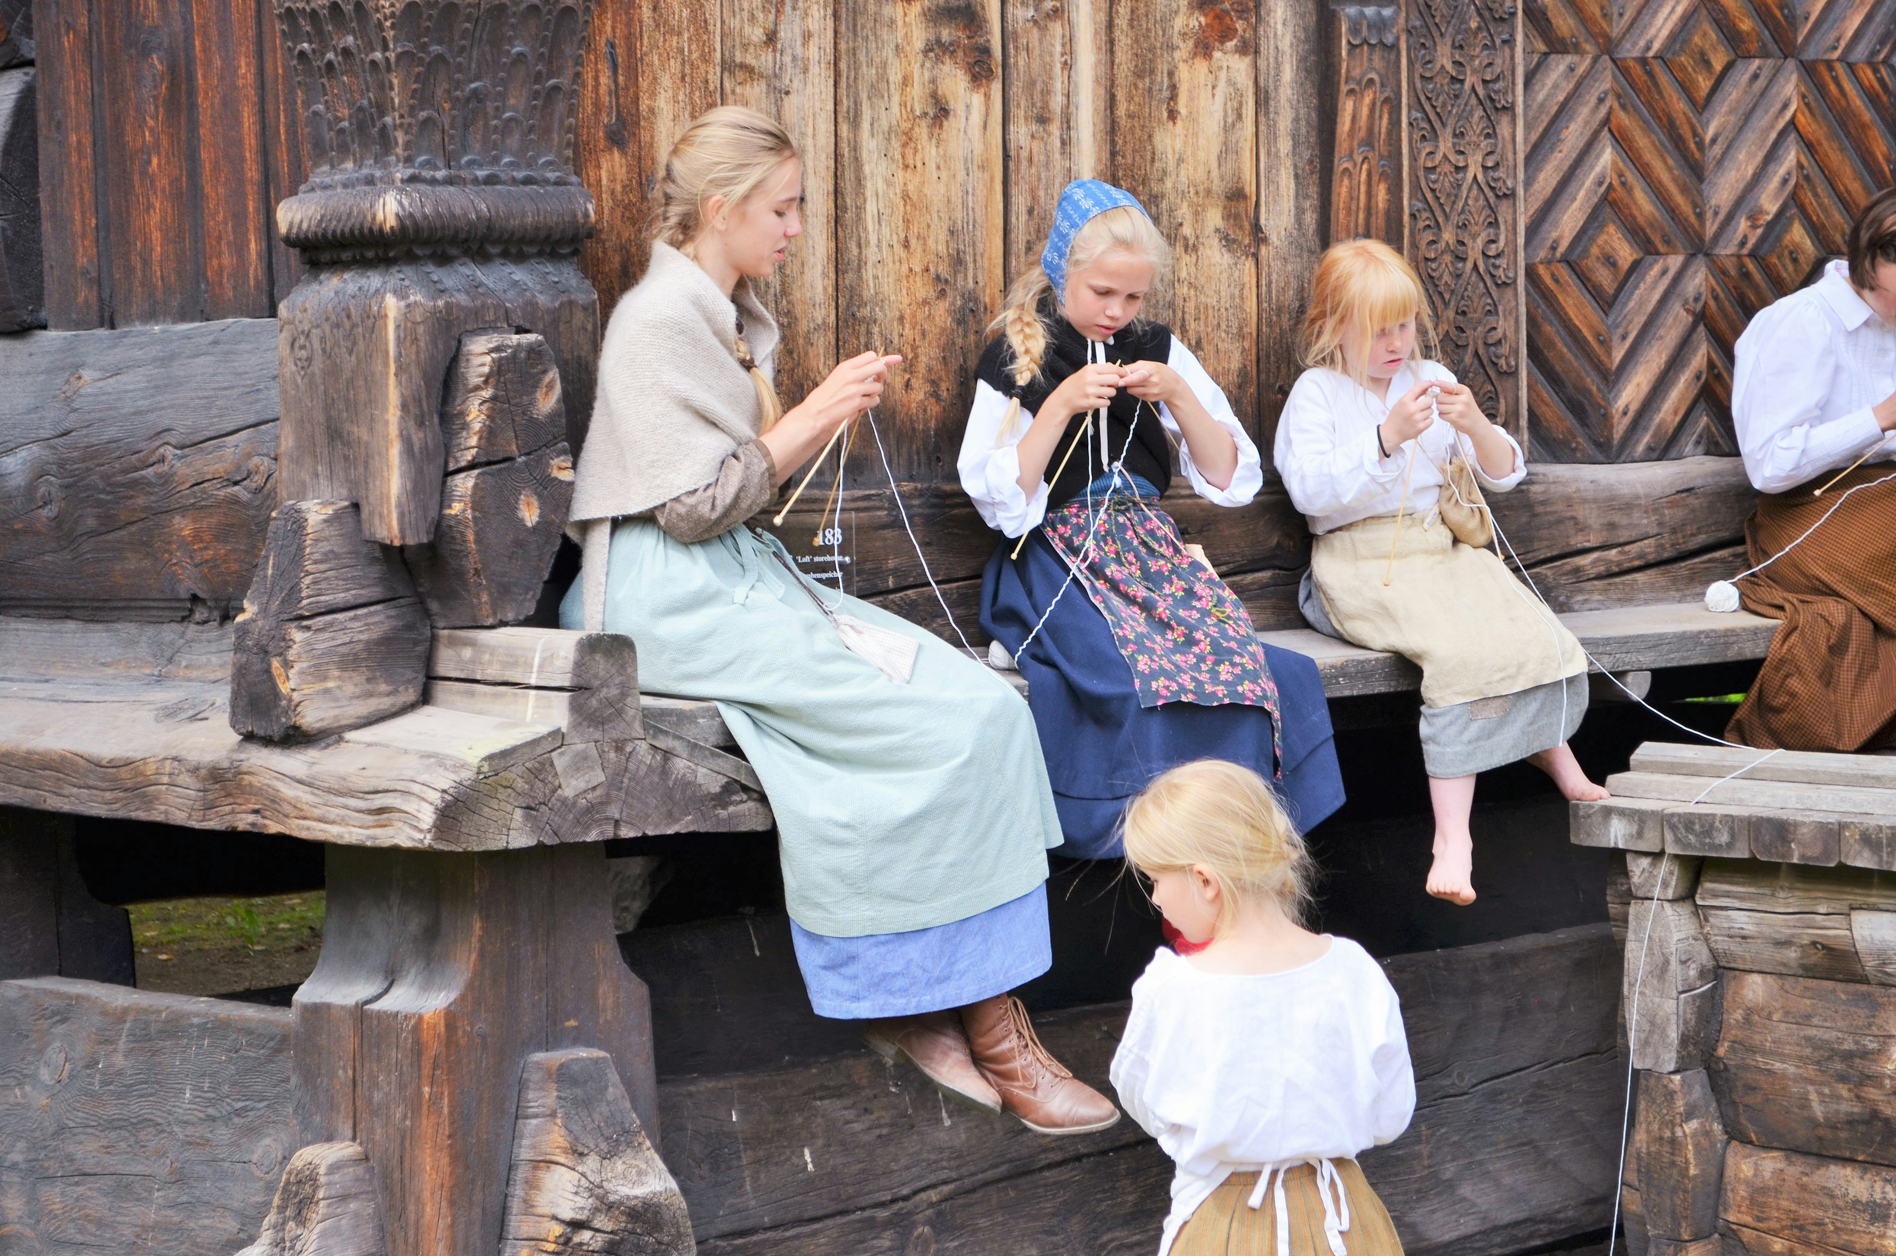
<path id="1" fill-rule="evenodd" d="M 1579 846 L 1896 869 L 1896 759 L 1648 742 L 1606 787 Z"/>

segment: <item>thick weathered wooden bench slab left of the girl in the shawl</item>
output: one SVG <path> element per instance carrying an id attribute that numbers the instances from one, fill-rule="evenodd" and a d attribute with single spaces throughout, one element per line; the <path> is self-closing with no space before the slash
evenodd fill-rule
<path id="1" fill-rule="evenodd" d="M 749 765 L 578 738 L 552 715 L 421 706 L 250 742 L 229 727 L 228 668 L 228 628 L 0 619 L 0 804 L 421 850 L 772 823 Z"/>

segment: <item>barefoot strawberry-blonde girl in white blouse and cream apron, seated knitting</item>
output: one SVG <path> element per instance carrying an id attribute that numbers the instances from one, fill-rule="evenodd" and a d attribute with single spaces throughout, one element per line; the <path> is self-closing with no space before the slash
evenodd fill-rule
<path id="1" fill-rule="evenodd" d="M 1312 626 L 1422 668 L 1428 892 L 1466 905 L 1477 772 L 1526 759 L 1568 799 L 1606 791 L 1566 746 L 1587 713 L 1579 641 L 1481 548 L 1492 529 L 1481 491 L 1521 484 L 1521 446 L 1420 355 L 1426 332 L 1422 281 L 1394 249 L 1329 249 L 1303 328 L 1310 370 L 1284 402 L 1274 461 L 1316 537 L 1303 598 Z"/>

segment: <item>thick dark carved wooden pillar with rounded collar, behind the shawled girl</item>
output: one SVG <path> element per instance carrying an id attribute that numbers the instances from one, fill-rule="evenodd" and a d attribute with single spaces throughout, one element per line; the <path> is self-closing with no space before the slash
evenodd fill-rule
<path id="1" fill-rule="evenodd" d="M 283 302 L 284 501 L 355 501 L 434 537 L 442 391 L 465 332 L 542 336 L 569 442 L 592 416 L 599 298 L 573 175 L 592 0 L 275 0 L 311 178 L 277 209 L 309 264 Z"/>

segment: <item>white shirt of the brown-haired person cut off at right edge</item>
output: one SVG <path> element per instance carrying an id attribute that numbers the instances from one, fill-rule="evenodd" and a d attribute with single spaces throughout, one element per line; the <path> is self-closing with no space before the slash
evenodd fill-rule
<path id="1" fill-rule="evenodd" d="M 1850 286 L 1843 262 L 1809 288 L 1758 311 L 1731 374 L 1731 421 L 1744 474 L 1759 493 L 1782 493 L 1826 471 L 1896 457 L 1871 406 L 1896 393 L 1896 330 Z"/>

